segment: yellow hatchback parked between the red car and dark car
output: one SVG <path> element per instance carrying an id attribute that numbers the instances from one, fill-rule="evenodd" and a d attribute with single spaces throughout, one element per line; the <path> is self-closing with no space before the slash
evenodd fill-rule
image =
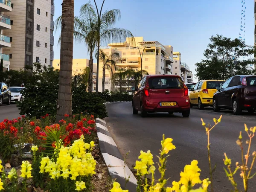
<path id="1" fill-rule="evenodd" d="M 223 83 L 221 80 L 198 81 L 189 94 L 190 106 L 198 106 L 199 109 L 212 106 L 212 97 Z"/>

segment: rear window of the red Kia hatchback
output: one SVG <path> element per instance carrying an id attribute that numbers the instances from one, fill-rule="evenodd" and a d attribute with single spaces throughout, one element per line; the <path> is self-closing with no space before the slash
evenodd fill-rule
<path id="1" fill-rule="evenodd" d="M 183 81 L 176 77 L 153 77 L 148 79 L 150 89 L 181 89 Z"/>

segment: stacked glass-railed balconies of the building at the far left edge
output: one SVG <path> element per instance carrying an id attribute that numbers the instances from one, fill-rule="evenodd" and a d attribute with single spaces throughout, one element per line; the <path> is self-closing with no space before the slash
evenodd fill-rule
<path id="1" fill-rule="evenodd" d="M 10 0 L 0 0 L 0 60 L 3 59 L 4 70 L 9 70 L 9 55 L 3 53 L 5 47 L 11 47 L 11 38 L 3 35 L 3 30 L 11 30 L 10 13 L 12 12 L 12 4 Z"/>

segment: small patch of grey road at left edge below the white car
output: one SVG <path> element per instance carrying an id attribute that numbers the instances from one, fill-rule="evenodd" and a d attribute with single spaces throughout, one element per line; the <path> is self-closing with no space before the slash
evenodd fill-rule
<path id="1" fill-rule="evenodd" d="M 15 104 L 11 105 L 2 105 L 0 107 L 0 122 L 3 121 L 3 119 L 14 119 L 19 117 L 19 110 Z"/>

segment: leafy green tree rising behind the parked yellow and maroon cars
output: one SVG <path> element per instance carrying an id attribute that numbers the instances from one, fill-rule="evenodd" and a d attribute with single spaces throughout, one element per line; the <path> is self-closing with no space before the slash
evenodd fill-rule
<path id="1" fill-rule="evenodd" d="M 211 36 L 210 41 L 204 51 L 206 59 L 195 64 L 199 80 L 224 80 L 232 75 L 253 73 L 253 69 L 249 67 L 254 64 L 254 59 L 249 58 L 254 54 L 253 46 L 247 46 L 237 38 L 232 40 L 218 34 Z"/>

